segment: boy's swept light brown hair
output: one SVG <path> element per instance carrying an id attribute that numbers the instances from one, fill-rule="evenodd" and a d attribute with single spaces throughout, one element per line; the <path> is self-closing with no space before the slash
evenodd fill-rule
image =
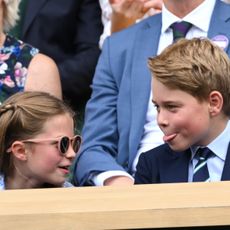
<path id="1" fill-rule="evenodd" d="M 183 90 L 199 101 L 217 90 L 223 112 L 230 116 L 230 59 L 205 38 L 180 39 L 160 55 L 149 58 L 152 76 L 171 89 Z"/>

